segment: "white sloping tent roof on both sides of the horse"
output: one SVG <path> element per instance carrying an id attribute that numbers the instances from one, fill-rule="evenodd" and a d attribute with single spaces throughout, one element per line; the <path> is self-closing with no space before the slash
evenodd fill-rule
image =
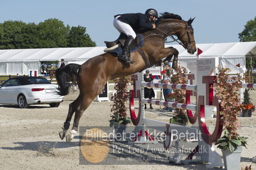
<path id="1" fill-rule="evenodd" d="M 179 51 L 179 58 L 196 58 L 189 54 L 181 45 L 166 45 Z M 201 58 L 241 58 L 256 56 L 256 42 L 233 43 L 198 43 L 196 47 L 203 50 Z M 52 49 L 8 49 L 0 50 L 0 61 L 81 61 L 103 54 L 105 47 L 74 47 Z"/>

